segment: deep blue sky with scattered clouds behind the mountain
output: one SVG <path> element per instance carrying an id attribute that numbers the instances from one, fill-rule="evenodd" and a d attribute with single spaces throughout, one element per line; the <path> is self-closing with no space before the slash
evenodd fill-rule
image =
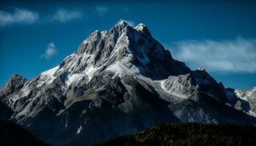
<path id="1" fill-rule="evenodd" d="M 18 73 L 36 77 L 74 53 L 94 30 L 118 20 L 144 23 L 173 58 L 203 66 L 226 87 L 256 85 L 256 3 L 2 2 L 0 86 Z"/>

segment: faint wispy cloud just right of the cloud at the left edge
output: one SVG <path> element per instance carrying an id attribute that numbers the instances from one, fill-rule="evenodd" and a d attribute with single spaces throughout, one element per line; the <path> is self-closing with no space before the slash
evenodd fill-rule
<path id="1" fill-rule="evenodd" d="M 54 15 L 53 20 L 57 20 L 61 23 L 65 23 L 69 20 L 75 20 L 82 18 L 82 12 L 80 11 L 69 11 L 65 9 L 59 9 Z"/>

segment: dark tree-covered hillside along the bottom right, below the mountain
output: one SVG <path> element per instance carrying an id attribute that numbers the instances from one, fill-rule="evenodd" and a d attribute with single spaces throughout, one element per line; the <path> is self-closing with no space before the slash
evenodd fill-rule
<path id="1" fill-rule="evenodd" d="M 256 128 L 227 124 L 169 123 L 99 145 L 255 145 Z"/>

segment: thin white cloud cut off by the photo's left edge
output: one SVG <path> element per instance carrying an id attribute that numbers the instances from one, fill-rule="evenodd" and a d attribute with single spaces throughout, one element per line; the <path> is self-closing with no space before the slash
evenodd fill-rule
<path id="1" fill-rule="evenodd" d="M 0 26 L 10 25 L 12 23 L 32 24 L 37 22 L 39 16 L 36 12 L 27 9 L 15 8 L 14 12 L 0 11 Z"/>

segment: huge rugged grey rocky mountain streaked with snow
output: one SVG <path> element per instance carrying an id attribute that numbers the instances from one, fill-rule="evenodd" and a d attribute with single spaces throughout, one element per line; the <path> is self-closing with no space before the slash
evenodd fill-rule
<path id="1" fill-rule="evenodd" d="M 94 145 L 160 123 L 255 126 L 249 104 L 205 69 L 175 60 L 144 24 L 94 31 L 72 55 L 0 91 L 10 120 L 50 145 Z"/>

